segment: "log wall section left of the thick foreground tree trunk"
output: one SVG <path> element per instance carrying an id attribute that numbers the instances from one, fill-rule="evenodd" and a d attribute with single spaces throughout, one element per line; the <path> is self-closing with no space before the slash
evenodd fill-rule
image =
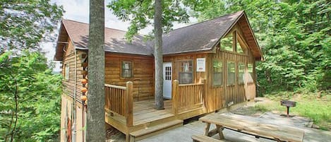
<path id="1" fill-rule="evenodd" d="M 62 61 L 62 75 L 64 79 L 62 84 L 64 85 L 64 94 L 73 97 L 74 90 L 75 90 L 75 49 L 73 47 L 73 43 L 71 42 L 70 38 L 67 40 L 68 44 L 64 49 L 64 58 Z M 83 78 L 81 71 L 83 71 L 82 66 L 82 54 L 85 52 L 77 50 L 76 59 L 77 59 L 77 88 L 76 88 L 76 100 L 81 103 L 80 96 L 82 95 L 81 89 L 83 88 L 82 83 L 80 80 Z M 68 66 L 68 67 L 66 67 Z M 69 71 L 66 71 L 68 69 Z M 68 73 L 68 78 L 66 78 L 66 73 Z"/>

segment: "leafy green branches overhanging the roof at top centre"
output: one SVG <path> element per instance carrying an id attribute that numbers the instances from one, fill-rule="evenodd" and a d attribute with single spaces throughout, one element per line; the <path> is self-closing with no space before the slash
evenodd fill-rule
<path id="1" fill-rule="evenodd" d="M 133 1 L 133 0 L 115 0 L 107 5 L 114 15 L 120 20 L 130 21 L 130 27 L 126 32 L 126 39 L 132 40 L 139 30 L 152 25 L 154 18 L 154 1 Z M 171 30 L 174 22 L 188 22 L 187 9 L 182 6 L 182 1 L 164 0 L 162 1 L 162 31 Z"/>

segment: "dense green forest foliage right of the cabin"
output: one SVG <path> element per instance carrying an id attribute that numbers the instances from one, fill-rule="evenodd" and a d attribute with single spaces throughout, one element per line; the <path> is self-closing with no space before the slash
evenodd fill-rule
<path id="1" fill-rule="evenodd" d="M 199 20 L 245 10 L 265 61 L 257 64 L 259 93 L 331 89 L 331 2 L 188 1 Z"/>

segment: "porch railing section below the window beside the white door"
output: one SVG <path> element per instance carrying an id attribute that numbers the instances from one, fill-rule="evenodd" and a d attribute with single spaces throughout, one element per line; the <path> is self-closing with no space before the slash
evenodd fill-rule
<path id="1" fill-rule="evenodd" d="M 181 84 L 175 80 L 172 83 L 172 111 L 174 114 L 203 107 L 205 80 L 198 84 Z"/>

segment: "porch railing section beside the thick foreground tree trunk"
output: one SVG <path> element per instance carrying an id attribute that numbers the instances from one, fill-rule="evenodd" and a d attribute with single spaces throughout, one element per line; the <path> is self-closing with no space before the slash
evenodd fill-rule
<path id="1" fill-rule="evenodd" d="M 104 84 L 106 112 L 119 114 L 126 118 L 126 126 L 133 126 L 133 83 L 126 86 Z"/>

